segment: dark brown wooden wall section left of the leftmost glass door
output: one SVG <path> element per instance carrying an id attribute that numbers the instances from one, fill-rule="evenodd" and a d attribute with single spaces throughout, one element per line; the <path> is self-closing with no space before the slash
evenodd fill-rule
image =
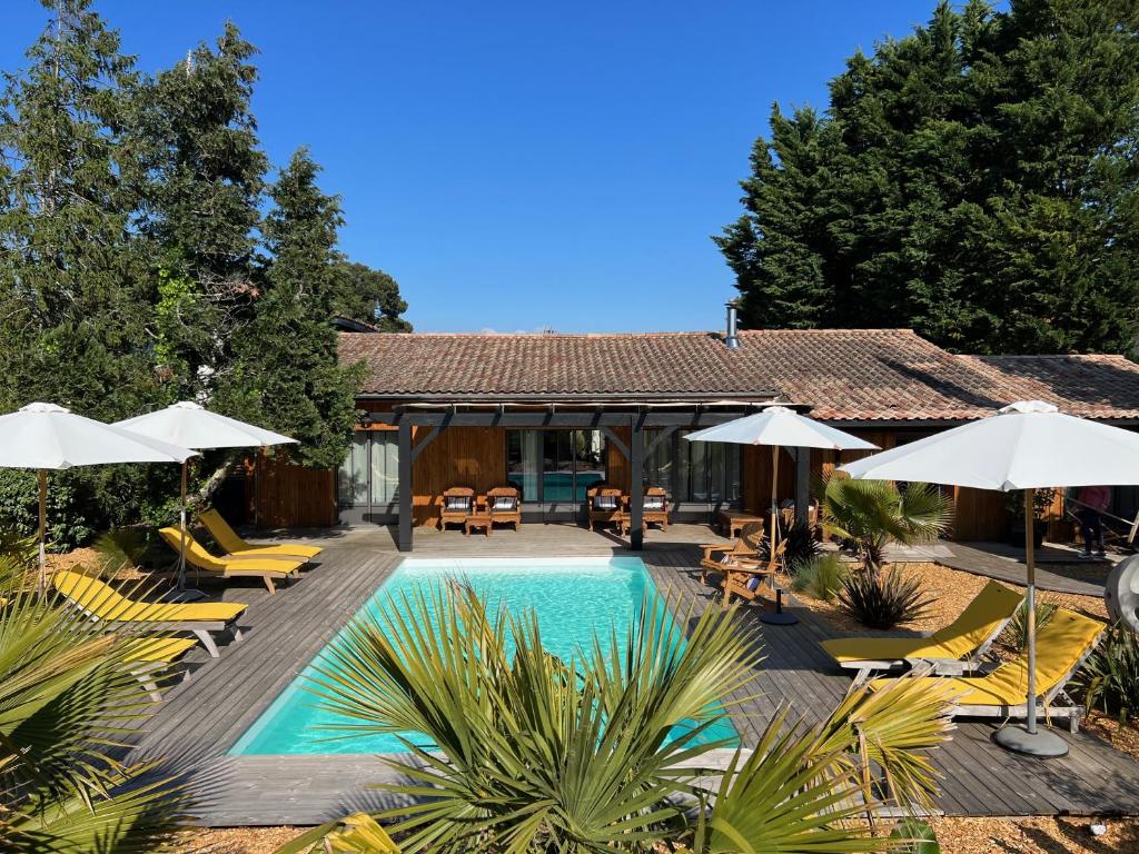
<path id="1" fill-rule="evenodd" d="M 339 522 L 336 473 L 331 469 L 305 468 L 284 457 L 257 454 L 252 481 L 260 527 L 331 527 Z"/>

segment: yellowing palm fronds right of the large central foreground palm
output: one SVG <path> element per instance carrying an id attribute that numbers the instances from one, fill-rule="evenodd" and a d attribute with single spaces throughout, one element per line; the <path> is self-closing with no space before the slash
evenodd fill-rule
<path id="1" fill-rule="evenodd" d="M 777 715 L 752 755 L 740 762 L 737 753 L 708 793 L 714 805 L 702 811 L 686 851 L 896 849 L 906 839 L 875 834 L 875 814 L 932 804 L 936 772 L 926 752 L 952 729 L 944 689 L 921 679 L 858 689 L 816 726 Z M 883 790 L 886 799 L 876 795 Z"/>

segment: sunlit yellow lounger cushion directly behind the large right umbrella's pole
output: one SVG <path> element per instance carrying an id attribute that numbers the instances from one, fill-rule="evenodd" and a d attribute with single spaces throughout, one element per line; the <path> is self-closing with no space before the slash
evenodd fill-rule
<path id="1" fill-rule="evenodd" d="M 1036 633 L 1036 692 L 1046 695 L 1058 687 L 1104 629 L 1106 626 L 1098 619 L 1057 609 Z M 870 685 L 880 687 L 887 682 L 877 679 Z M 944 684 L 953 701 L 962 706 L 1023 705 L 1029 690 L 1027 650 L 983 676 L 948 679 L 940 684 Z"/>

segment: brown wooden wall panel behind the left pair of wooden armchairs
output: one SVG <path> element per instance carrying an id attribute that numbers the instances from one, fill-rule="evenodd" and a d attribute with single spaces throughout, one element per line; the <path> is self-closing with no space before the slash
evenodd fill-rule
<path id="1" fill-rule="evenodd" d="M 431 428 L 416 427 L 412 442 Z M 448 427 L 440 430 L 411 467 L 411 511 L 416 525 L 434 525 L 443 491 L 469 486 L 485 493 L 506 483 L 506 430 L 501 427 Z"/>

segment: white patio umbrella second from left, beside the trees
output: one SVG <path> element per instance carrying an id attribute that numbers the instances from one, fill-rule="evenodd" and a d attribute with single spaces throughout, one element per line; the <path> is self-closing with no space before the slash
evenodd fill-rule
<path id="1" fill-rule="evenodd" d="M 197 451 L 214 447 L 267 447 L 296 442 L 295 438 L 280 433 L 211 412 L 192 401 L 179 401 L 156 412 L 117 421 L 115 426 L 140 436 L 173 442 Z M 182 500 L 179 511 L 181 532 L 181 549 L 178 555 L 179 590 L 186 584 L 186 479 L 187 466 L 183 462 Z"/>

